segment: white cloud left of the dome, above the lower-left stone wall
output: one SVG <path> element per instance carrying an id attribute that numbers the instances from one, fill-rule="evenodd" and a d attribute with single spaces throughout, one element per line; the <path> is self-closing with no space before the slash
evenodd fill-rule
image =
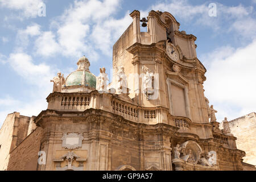
<path id="1" fill-rule="evenodd" d="M 13 98 L 9 95 L 0 98 L 0 127 L 7 114 L 18 111 L 21 115 L 38 115 L 47 108 L 46 97 L 52 91 L 50 79 L 55 76 L 56 69 L 45 63 L 35 64 L 27 53 L 11 53 L 7 59 L 14 71 L 27 82 L 30 87 L 24 87 L 27 95 L 24 98 Z"/>

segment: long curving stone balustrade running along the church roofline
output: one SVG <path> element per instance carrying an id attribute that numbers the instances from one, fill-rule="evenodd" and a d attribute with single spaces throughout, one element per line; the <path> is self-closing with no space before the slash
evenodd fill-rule
<path id="1" fill-rule="evenodd" d="M 85 111 L 86 109 L 101 109 L 109 111 L 123 118 L 137 122 L 155 125 L 156 123 L 167 123 L 168 109 L 162 106 L 143 107 L 135 104 L 126 94 L 99 93 L 94 90 L 90 93 L 60 93 L 54 92 L 46 98 L 48 109 L 58 111 Z M 171 125 L 176 124 L 183 131 L 189 130 L 188 118 L 175 117 Z"/>

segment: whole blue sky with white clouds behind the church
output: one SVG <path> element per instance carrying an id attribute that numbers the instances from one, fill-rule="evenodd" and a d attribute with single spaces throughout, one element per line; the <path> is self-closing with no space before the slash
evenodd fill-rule
<path id="1" fill-rule="evenodd" d="M 46 16 L 38 6 L 46 5 Z M 209 16 L 216 3 L 217 16 Z M 248 1 L 0 1 L 0 126 L 18 111 L 37 115 L 47 108 L 49 80 L 67 76 L 82 55 L 90 71 L 110 75 L 112 46 L 132 22 L 129 14 L 168 11 L 180 31 L 197 37 L 197 57 L 207 68 L 205 96 L 217 120 L 255 111 L 256 0 Z"/>

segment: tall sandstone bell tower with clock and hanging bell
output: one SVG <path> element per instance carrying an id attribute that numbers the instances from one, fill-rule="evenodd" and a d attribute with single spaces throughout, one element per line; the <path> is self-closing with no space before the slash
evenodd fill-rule
<path id="1" fill-rule="evenodd" d="M 196 56 L 196 37 L 179 31 L 180 23 L 168 12 L 150 11 L 147 32 L 141 32 L 139 11 L 130 16 L 133 22 L 113 46 L 113 69 L 123 66 L 129 96 L 143 107 L 158 107 L 162 122 L 170 116 L 209 122 L 206 69 Z"/>

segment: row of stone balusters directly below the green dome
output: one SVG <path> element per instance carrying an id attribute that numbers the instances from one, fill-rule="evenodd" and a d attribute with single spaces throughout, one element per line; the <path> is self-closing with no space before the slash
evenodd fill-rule
<path id="1" fill-rule="evenodd" d="M 64 110 L 84 110 L 89 106 L 90 95 L 80 94 L 77 96 L 62 96 L 61 109 Z"/>

